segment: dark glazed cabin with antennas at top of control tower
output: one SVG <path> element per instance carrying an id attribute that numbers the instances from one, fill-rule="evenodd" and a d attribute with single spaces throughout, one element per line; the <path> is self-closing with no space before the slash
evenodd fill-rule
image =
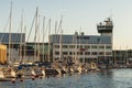
<path id="1" fill-rule="evenodd" d="M 101 35 L 110 35 L 112 37 L 113 23 L 110 18 L 97 24 L 98 33 Z"/>

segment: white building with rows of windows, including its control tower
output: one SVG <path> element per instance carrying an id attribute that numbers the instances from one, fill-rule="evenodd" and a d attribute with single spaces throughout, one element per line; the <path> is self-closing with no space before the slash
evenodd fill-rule
<path id="1" fill-rule="evenodd" d="M 110 63 L 112 62 L 112 21 L 107 19 L 105 23 L 97 25 L 100 35 L 85 35 L 75 32 L 73 35 L 52 34 L 52 58 L 78 59 L 81 63 Z"/>

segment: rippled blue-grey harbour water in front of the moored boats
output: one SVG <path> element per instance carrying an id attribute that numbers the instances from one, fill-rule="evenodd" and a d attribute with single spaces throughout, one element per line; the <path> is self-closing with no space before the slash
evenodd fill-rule
<path id="1" fill-rule="evenodd" d="M 0 88 L 132 88 L 132 69 L 109 69 L 42 79 L 0 81 Z"/>

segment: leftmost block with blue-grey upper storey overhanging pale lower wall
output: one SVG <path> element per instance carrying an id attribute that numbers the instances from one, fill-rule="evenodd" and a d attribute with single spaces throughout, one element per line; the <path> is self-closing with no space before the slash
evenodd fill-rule
<path id="1" fill-rule="evenodd" d="M 25 44 L 25 34 L 24 33 L 0 33 L 0 44 L 7 45 L 8 63 L 20 61 L 19 59 L 20 45 Z"/>

